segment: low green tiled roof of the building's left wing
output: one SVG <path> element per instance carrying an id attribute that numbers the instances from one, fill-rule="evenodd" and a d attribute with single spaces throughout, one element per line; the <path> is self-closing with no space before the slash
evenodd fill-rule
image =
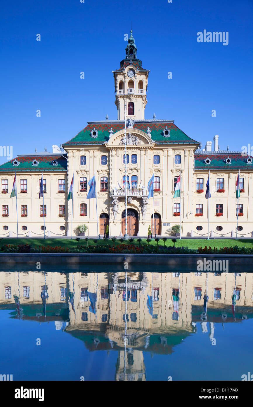
<path id="1" fill-rule="evenodd" d="M 33 160 L 37 160 L 39 164 L 37 166 L 32 165 Z M 19 161 L 18 166 L 14 166 L 12 162 L 14 160 Z M 53 165 L 53 161 L 57 161 L 58 165 Z M 49 156 L 20 156 L 11 161 L 8 161 L 2 165 L 0 165 L 0 172 L 1 171 L 67 171 L 67 160 L 63 158 L 61 155 L 49 155 Z"/>

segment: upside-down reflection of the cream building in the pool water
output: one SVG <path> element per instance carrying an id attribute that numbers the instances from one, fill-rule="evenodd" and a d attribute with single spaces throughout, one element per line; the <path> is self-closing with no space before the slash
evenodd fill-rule
<path id="1" fill-rule="evenodd" d="M 0 272 L 0 309 L 54 321 L 90 351 L 118 352 L 115 380 L 145 380 L 143 352 L 171 354 L 197 331 L 253 316 L 251 273 Z"/>

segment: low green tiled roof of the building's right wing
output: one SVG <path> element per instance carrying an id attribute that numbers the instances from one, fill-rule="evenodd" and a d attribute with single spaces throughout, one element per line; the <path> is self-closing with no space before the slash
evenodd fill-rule
<path id="1" fill-rule="evenodd" d="M 231 158 L 231 163 L 227 164 L 226 163 L 226 158 Z M 205 159 L 210 158 L 211 162 L 210 164 L 205 164 Z M 243 168 L 243 169 L 249 169 L 253 170 L 253 163 L 248 164 L 247 163 L 247 157 L 242 157 L 241 154 L 229 154 L 229 151 L 226 154 L 195 154 L 195 170 L 211 170 L 211 169 L 225 169 L 225 170 L 231 170 L 231 169 L 238 169 L 238 168 Z"/>

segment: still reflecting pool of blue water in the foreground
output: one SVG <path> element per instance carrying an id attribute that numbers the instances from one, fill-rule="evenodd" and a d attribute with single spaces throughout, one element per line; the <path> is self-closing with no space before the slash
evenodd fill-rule
<path id="1" fill-rule="evenodd" d="M 251 273 L 47 269 L 0 272 L 0 374 L 241 381 L 252 371 Z"/>

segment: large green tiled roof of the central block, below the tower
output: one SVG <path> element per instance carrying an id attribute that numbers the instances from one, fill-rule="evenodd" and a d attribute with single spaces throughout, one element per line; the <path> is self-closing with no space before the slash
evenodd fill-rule
<path id="1" fill-rule="evenodd" d="M 91 137 L 91 131 L 97 130 L 97 138 Z M 112 127 L 114 133 L 119 130 L 124 129 L 123 120 L 115 120 L 114 122 L 99 123 L 93 122 L 89 123 L 88 126 L 84 127 L 80 133 L 78 133 L 74 138 L 64 143 L 63 146 L 71 145 L 85 145 L 85 144 L 103 144 L 109 140 L 109 131 Z M 195 144 L 197 141 L 186 136 L 186 134 L 180 130 L 172 121 L 166 120 L 136 120 L 134 123 L 134 129 L 139 129 L 147 132 L 147 129 L 151 131 L 151 139 L 157 144 Z M 164 137 L 163 130 L 168 127 L 170 129 L 170 136 Z"/>

